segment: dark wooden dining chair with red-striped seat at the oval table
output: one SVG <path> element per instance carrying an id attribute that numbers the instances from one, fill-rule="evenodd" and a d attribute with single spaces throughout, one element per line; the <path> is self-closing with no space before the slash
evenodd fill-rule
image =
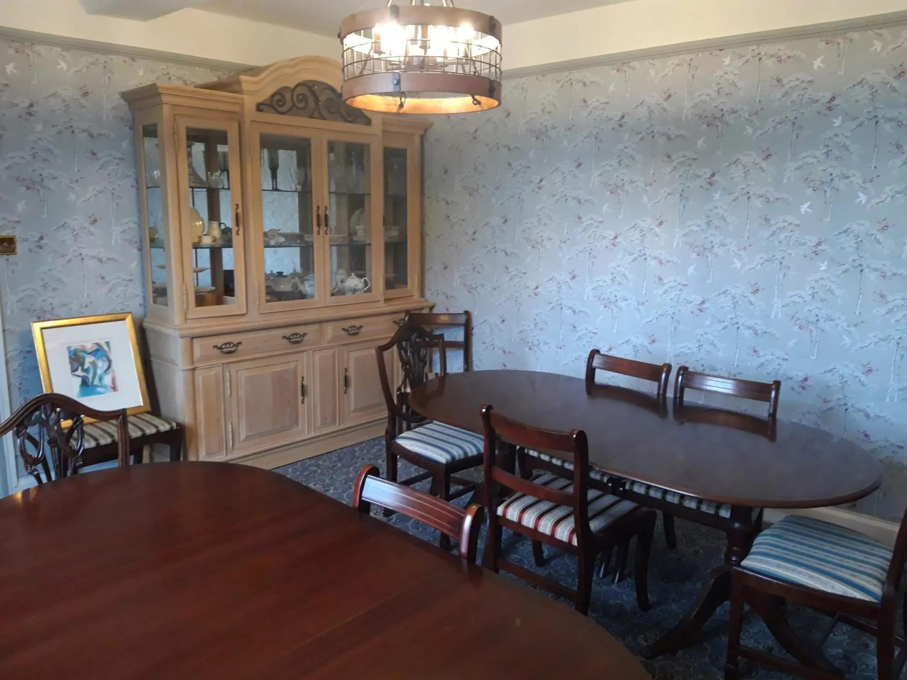
<path id="1" fill-rule="evenodd" d="M 581 430 L 553 432 L 518 423 L 482 407 L 485 433 L 484 477 L 488 496 L 488 536 L 484 564 L 523 578 L 565 597 L 577 611 L 589 613 L 595 560 L 609 546 L 636 537 L 636 600 L 640 609 L 649 609 L 649 551 L 655 530 L 654 510 L 647 510 L 607 491 L 589 488 L 589 444 Z M 508 471 L 496 455 L 498 442 L 522 449 L 559 452 L 572 459 L 573 479 L 545 471 L 531 479 Z M 503 498 L 502 488 L 511 491 Z M 541 551 L 535 546 L 550 545 L 576 555 L 579 561 L 577 588 L 566 588 L 534 571 L 501 558 L 502 529 L 510 529 L 533 540 L 533 558 L 540 565 Z"/>

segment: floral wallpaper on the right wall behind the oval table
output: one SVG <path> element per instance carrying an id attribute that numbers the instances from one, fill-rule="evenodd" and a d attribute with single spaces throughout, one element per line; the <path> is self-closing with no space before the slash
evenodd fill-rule
<path id="1" fill-rule="evenodd" d="M 783 381 L 780 414 L 873 452 L 907 503 L 907 30 L 509 80 L 435 121 L 426 296 L 476 368 L 591 347 Z"/>

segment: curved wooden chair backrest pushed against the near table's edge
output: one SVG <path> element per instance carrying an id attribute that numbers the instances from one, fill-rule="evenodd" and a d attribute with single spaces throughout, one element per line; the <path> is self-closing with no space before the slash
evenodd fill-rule
<path id="1" fill-rule="evenodd" d="M 482 506 L 473 503 L 462 510 L 424 491 L 383 480 L 375 465 L 366 465 L 356 477 L 353 507 L 367 515 L 372 510 L 372 503 L 437 529 L 457 542 L 460 557 L 475 563 L 479 530 L 482 529 Z"/>

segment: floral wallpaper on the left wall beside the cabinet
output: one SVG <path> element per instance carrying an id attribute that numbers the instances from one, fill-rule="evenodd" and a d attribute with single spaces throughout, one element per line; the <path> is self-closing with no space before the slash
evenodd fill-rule
<path id="1" fill-rule="evenodd" d="M 144 316 L 132 115 L 120 92 L 227 72 L 0 39 L 0 257 L 14 407 L 41 393 L 31 323 Z"/>

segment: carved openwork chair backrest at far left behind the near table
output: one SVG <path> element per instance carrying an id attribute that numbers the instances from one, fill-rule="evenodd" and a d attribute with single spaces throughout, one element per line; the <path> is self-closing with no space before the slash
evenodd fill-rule
<path id="1" fill-rule="evenodd" d="M 96 411 L 64 394 L 39 394 L 28 400 L 0 423 L 0 437 L 13 432 L 25 471 L 43 484 L 82 467 L 84 418 L 117 422 L 117 461 L 128 465 L 126 411 Z"/>

